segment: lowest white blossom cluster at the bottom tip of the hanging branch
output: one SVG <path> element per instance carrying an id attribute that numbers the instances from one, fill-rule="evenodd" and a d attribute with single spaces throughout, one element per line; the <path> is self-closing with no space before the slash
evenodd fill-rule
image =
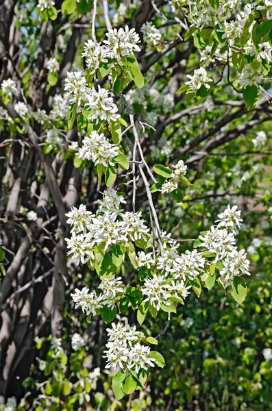
<path id="1" fill-rule="evenodd" d="M 112 328 L 107 329 L 108 343 L 106 343 L 105 357 L 106 368 L 133 370 L 138 373 L 140 369 L 147 370 L 154 366 L 151 358 L 150 347 L 140 343 L 144 334 L 136 331 L 136 327 L 112 323 Z"/>

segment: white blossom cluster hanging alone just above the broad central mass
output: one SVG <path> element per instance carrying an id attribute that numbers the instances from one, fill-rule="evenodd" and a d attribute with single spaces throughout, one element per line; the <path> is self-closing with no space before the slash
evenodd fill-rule
<path id="1" fill-rule="evenodd" d="M 119 147 L 108 142 L 103 134 L 91 132 L 90 136 L 84 137 L 83 147 L 79 148 L 78 156 L 83 160 L 92 160 L 97 164 L 114 165 L 112 159 L 118 155 Z"/>

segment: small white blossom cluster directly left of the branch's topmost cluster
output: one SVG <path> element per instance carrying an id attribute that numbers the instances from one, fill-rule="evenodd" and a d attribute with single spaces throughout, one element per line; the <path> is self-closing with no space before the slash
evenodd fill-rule
<path id="1" fill-rule="evenodd" d="M 108 62 L 110 50 L 108 47 L 101 46 L 101 43 L 96 45 L 92 40 L 88 40 L 84 44 L 83 49 L 82 57 L 86 57 L 86 65 L 90 69 L 90 74 L 95 73 L 99 69 L 100 63 Z"/>

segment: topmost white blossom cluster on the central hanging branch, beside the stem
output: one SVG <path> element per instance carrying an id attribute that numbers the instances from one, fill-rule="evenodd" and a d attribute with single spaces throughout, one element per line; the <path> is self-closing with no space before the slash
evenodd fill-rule
<path id="1" fill-rule="evenodd" d="M 121 63 L 121 57 L 129 54 L 133 54 L 134 51 L 140 51 L 140 47 L 137 43 L 140 42 L 138 34 L 136 34 L 135 29 L 129 30 L 126 25 L 125 30 L 113 29 L 106 33 L 108 40 L 104 40 L 104 43 L 108 45 L 110 49 L 110 57 L 116 58 L 119 64 Z"/>

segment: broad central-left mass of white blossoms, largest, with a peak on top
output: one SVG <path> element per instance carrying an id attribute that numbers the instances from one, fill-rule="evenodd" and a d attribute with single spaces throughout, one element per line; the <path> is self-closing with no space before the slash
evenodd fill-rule
<path id="1" fill-rule="evenodd" d="M 116 201 L 116 197 L 121 199 Z M 87 212 L 84 205 L 79 207 L 80 213 L 73 207 L 71 212 L 66 214 L 69 218 L 67 222 L 73 226 L 72 237 L 66 238 L 67 247 L 76 264 L 79 264 L 79 261 L 91 262 L 94 258 L 94 247 L 101 242 L 105 244 L 106 250 L 112 244 L 125 245 L 127 241 L 147 240 L 149 228 L 145 225 L 141 212 L 116 212 L 116 208 L 124 201 L 123 196 L 119 196 L 112 189 L 108 190 L 103 201 L 99 203 L 96 216 Z M 114 207 L 110 208 L 110 204 L 114 204 Z M 101 210 L 105 212 L 102 214 Z"/>

